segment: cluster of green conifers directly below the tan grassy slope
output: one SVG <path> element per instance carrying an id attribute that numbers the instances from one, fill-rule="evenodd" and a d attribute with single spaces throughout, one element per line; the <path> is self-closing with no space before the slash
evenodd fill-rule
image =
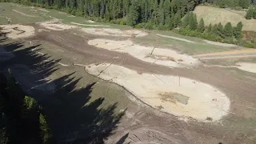
<path id="1" fill-rule="evenodd" d="M 216 42 L 256 47 L 255 42 L 249 42 L 242 39 L 242 26 L 242 22 L 238 22 L 237 26 L 232 26 L 230 22 L 227 22 L 225 26 L 223 26 L 221 22 L 205 26 L 203 19 L 198 22 L 196 14 L 190 12 L 182 18 L 180 28 L 174 31 L 178 34 L 204 38 Z"/>

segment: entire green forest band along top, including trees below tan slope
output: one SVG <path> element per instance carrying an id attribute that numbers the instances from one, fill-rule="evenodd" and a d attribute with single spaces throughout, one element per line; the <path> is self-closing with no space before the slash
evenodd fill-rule
<path id="1" fill-rule="evenodd" d="M 212 41 L 256 47 L 254 41 L 242 39 L 242 22 L 238 26 L 222 23 L 205 26 L 203 19 L 190 14 L 200 4 L 242 9 L 249 7 L 246 18 L 254 18 L 251 4 L 255 0 L 0 0 L 30 6 L 41 6 L 66 11 L 70 14 L 136 28 L 174 30 L 178 34 L 205 38 Z M 186 15 L 186 17 L 184 17 Z M 185 20 L 184 20 L 185 19 Z"/>

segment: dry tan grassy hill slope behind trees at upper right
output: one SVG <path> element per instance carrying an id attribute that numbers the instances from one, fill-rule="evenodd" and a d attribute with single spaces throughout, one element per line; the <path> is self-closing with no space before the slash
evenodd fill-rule
<path id="1" fill-rule="evenodd" d="M 246 14 L 245 11 L 227 10 L 210 6 L 197 6 L 194 12 L 197 14 L 198 20 L 201 18 L 204 19 L 206 25 L 218 22 L 222 22 L 222 24 L 225 25 L 226 22 L 231 22 L 233 26 L 236 26 L 238 22 L 242 22 L 244 25 L 242 30 L 256 31 L 256 20 L 246 20 L 246 18 L 244 18 L 244 15 Z"/>

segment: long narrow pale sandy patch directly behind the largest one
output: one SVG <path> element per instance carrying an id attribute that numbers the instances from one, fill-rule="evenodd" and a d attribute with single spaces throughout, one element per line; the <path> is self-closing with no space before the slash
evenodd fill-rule
<path id="1" fill-rule="evenodd" d="M 94 39 L 88 41 L 88 44 L 106 50 L 128 53 L 142 61 L 162 66 L 184 67 L 197 66 L 200 64 L 198 59 L 192 58 L 186 54 L 178 54 L 174 50 L 139 46 L 130 40 L 112 41 L 106 39 Z"/>

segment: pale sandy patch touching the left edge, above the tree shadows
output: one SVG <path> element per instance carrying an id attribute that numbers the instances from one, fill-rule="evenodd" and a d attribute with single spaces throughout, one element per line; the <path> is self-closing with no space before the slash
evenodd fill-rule
<path id="1" fill-rule="evenodd" d="M 34 35 L 33 26 L 24 25 L 0 25 L 2 27 L 2 32 L 6 33 L 6 37 L 17 39 L 17 38 L 27 38 Z"/>

